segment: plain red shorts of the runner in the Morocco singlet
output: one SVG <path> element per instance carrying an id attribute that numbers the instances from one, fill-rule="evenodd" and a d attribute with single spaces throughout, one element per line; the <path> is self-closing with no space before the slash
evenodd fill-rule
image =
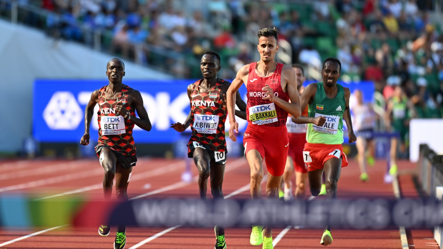
<path id="1" fill-rule="evenodd" d="M 245 146 L 245 155 L 250 150 L 257 150 L 260 153 L 269 174 L 283 175 L 289 148 L 286 125 L 272 127 L 249 123 L 243 136 L 243 146 Z"/>

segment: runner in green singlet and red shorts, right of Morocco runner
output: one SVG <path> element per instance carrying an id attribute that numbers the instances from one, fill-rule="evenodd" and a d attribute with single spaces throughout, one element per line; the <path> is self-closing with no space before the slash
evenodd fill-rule
<path id="1" fill-rule="evenodd" d="M 320 193 L 322 175 L 325 171 L 326 198 L 337 198 L 337 182 L 342 167 L 348 165 L 343 153 L 343 118 L 349 132 L 349 142 L 356 140 L 352 129 L 349 109 L 349 88 L 337 84 L 342 64 L 336 58 L 323 62 L 323 82 L 309 84 L 301 97 L 301 108 L 307 104 L 309 117 L 325 117 L 323 125 L 310 123 L 307 126 L 307 143 L 303 149 L 303 160 L 307 163 L 309 188 L 313 196 Z M 320 244 L 330 245 L 332 235 L 326 226 Z"/>

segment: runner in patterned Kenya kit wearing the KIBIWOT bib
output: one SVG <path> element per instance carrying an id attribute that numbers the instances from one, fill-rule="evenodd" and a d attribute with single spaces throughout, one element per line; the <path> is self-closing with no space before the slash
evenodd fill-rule
<path id="1" fill-rule="evenodd" d="M 203 78 L 190 84 L 187 88 L 191 107 L 189 115 L 183 124 L 171 124 L 171 128 L 178 132 L 183 132 L 191 126 L 192 136 L 187 145 L 188 157 L 194 158 L 195 166 L 197 166 L 198 189 L 200 198 L 204 200 L 206 200 L 209 177 L 213 198 L 223 198 L 221 186 L 225 174 L 227 153 L 225 93 L 231 82 L 217 78 L 220 69 L 220 56 L 214 51 L 206 51 L 200 63 Z M 235 110 L 235 114 L 246 119 L 246 103 L 241 100 L 239 94 L 236 104 L 240 110 Z M 226 249 L 225 229 L 215 226 L 214 231 L 215 249 Z"/>

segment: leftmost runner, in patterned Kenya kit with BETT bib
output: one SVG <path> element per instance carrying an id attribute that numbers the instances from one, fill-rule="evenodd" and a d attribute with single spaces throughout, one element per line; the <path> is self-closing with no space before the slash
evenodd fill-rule
<path id="1" fill-rule="evenodd" d="M 113 58 L 107 64 L 106 75 L 109 85 L 93 91 L 85 109 L 85 134 L 80 144 L 89 144 L 89 126 L 95 105 L 98 110 L 98 144 L 95 152 L 105 169 L 103 192 L 105 199 L 112 194 L 113 179 L 116 178 L 116 194 L 119 199 L 128 199 L 128 184 L 131 179 L 132 167 L 136 166 L 136 146 L 132 137 L 134 124 L 150 131 L 152 128 L 148 113 L 143 106 L 140 92 L 123 85 L 124 63 Z M 139 117 L 136 117 L 136 113 Z M 98 233 L 108 236 L 110 227 L 101 225 Z M 124 249 L 126 245 L 126 227 L 118 226 L 114 241 L 114 249 Z"/>

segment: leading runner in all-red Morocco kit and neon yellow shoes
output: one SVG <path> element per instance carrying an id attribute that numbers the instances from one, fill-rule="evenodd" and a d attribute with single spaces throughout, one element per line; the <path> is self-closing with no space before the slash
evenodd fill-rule
<path id="1" fill-rule="evenodd" d="M 226 94 L 231 124 L 229 138 L 234 142 L 237 140 L 234 130 L 238 132 L 238 124 L 233 111 L 238 99 L 236 93 L 240 86 L 245 84 L 248 96 L 248 127 L 243 137 L 243 145 L 251 170 L 251 196 L 253 199 L 261 198 L 264 159 L 268 169 L 266 195 L 268 198 L 278 198 L 278 188 L 288 157 L 286 119 L 288 113 L 294 117 L 300 116 L 300 99 L 294 69 L 274 60 L 279 49 L 277 28 L 263 28 L 257 35 L 260 61 L 242 66 Z M 272 249 L 272 228 L 265 227 L 262 231 L 262 226 L 256 224 L 249 241 L 252 245 L 263 243 L 263 249 Z"/>

